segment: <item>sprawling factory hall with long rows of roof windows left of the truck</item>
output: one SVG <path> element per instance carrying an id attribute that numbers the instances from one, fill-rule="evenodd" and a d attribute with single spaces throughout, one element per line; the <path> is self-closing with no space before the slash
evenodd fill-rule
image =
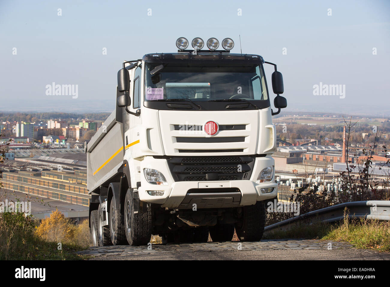
<path id="1" fill-rule="evenodd" d="M 18 150 L 15 160 L 6 160 L 0 168 L 7 190 L 89 206 L 82 150 Z"/>

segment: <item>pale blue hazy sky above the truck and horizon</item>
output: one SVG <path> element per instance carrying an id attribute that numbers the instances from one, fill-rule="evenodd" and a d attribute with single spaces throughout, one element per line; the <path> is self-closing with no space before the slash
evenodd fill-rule
<path id="1" fill-rule="evenodd" d="M 0 0 L 0 110 L 111 111 L 122 61 L 176 52 L 181 36 L 231 37 L 239 53 L 241 34 L 243 53 L 278 64 L 290 109 L 349 111 L 368 103 L 390 115 L 389 15 L 390 1 L 379 0 Z M 266 71 L 270 79 L 272 68 Z M 52 82 L 77 84 L 78 98 L 47 96 Z M 346 97 L 313 95 L 320 82 L 345 84 Z"/>

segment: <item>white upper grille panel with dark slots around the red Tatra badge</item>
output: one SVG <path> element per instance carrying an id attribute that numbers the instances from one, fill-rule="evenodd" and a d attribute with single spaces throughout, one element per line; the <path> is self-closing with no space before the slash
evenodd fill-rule
<path id="1" fill-rule="evenodd" d="M 200 155 L 254 155 L 259 136 L 268 136 L 268 130 L 259 130 L 262 117 L 258 110 L 247 111 L 159 111 L 164 154 L 171 157 Z M 207 121 L 218 124 L 218 132 L 208 135 Z M 262 126 L 262 125 L 261 125 Z M 263 132 L 263 135 L 261 135 Z"/>

